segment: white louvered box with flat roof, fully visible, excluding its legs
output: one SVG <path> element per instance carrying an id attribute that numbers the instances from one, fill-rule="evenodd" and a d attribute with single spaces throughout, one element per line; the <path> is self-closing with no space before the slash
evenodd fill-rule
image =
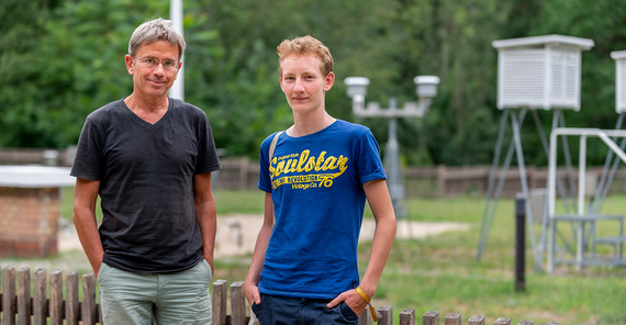
<path id="1" fill-rule="evenodd" d="M 494 41 L 498 108 L 580 110 L 581 52 L 593 41 L 544 35 Z"/>

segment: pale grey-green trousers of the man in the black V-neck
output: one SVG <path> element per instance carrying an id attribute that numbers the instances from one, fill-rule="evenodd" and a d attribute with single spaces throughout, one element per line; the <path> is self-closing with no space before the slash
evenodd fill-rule
<path id="1" fill-rule="evenodd" d="M 98 272 L 104 324 L 211 324 L 211 267 L 202 259 L 176 273 L 133 273 L 102 264 Z"/>

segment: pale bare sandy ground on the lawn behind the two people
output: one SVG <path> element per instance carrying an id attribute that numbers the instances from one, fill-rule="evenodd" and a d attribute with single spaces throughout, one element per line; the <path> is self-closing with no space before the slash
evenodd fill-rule
<path id="1" fill-rule="evenodd" d="M 217 217 L 217 236 L 215 239 L 215 258 L 251 254 L 262 216 L 235 214 Z M 467 231 L 470 226 L 450 222 L 406 222 L 398 223 L 396 238 L 424 238 L 450 231 Z M 364 220 L 359 242 L 371 240 L 375 223 L 371 218 Z M 59 250 L 81 249 L 78 236 L 71 225 L 62 227 L 59 234 Z"/>

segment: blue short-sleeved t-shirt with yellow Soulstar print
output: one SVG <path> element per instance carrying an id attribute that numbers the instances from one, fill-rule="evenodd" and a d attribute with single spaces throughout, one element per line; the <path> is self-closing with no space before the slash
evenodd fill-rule
<path id="1" fill-rule="evenodd" d="M 359 283 L 357 245 L 362 184 L 385 179 L 380 149 L 366 126 L 337 120 L 302 137 L 273 134 L 260 146 L 258 188 L 271 192 L 276 224 L 259 291 L 334 299 Z"/>

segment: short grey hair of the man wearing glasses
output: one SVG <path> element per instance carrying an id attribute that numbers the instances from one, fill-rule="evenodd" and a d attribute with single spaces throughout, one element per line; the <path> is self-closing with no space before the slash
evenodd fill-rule
<path id="1" fill-rule="evenodd" d="M 139 46 L 155 43 L 157 41 L 166 41 L 178 46 L 178 58 L 182 57 L 185 51 L 185 40 L 171 26 L 171 21 L 165 19 L 155 19 L 141 24 L 128 42 L 128 55 L 135 56 Z"/>

